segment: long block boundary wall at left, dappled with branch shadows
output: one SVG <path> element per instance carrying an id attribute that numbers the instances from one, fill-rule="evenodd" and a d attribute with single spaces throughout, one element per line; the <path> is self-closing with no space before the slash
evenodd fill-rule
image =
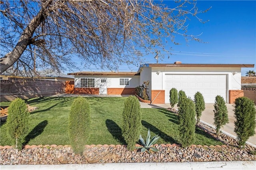
<path id="1" fill-rule="evenodd" d="M 30 99 L 65 93 L 64 81 L 14 78 L 1 80 L 0 87 L 1 101 L 12 101 L 17 97 Z"/>

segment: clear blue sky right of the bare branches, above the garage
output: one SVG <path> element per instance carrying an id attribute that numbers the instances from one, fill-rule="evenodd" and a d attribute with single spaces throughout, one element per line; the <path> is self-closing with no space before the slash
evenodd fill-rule
<path id="1" fill-rule="evenodd" d="M 172 1 L 163 3 L 171 4 Z M 214 63 L 214 64 L 256 64 L 256 1 L 197 1 L 199 10 L 208 12 L 199 14 L 205 24 L 190 17 L 188 34 L 199 35 L 206 43 L 195 41 L 185 42 L 183 37 L 176 37 L 181 45 L 170 44 L 173 55 L 159 60 L 159 63 Z M 167 45 L 168 46 L 168 45 Z M 162 53 L 164 54 L 164 53 Z M 78 63 L 80 61 L 76 60 Z M 146 63 L 156 63 L 153 55 L 146 56 Z M 78 64 L 80 65 L 80 64 Z M 120 66 L 119 71 L 137 71 L 127 65 Z M 242 68 L 242 75 L 246 71 L 256 71 L 254 68 Z M 70 73 L 78 70 L 65 71 Z M 81 68 L 80 71 L 108 71 L 91 67 Z"/>

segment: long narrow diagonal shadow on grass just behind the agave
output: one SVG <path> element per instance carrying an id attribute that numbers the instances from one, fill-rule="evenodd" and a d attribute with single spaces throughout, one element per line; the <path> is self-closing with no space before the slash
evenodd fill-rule
<path id="1" fill-rule="evenodd" d="M 167 143 L 176 143 L 179 144 L 178 141 L 176 141 L 174 138 L 168 136 L 166 133 L 162 132 L 161 130 L 159 130 L 158 128 L 154 127 L 153 125 L 151 125 L 150 123 L 146 122 L 146 121 L 141 121 L 142 125 L 146 128 L 149 128 L 151 132 L 154 132 L 155 134 L 158 134 L 158 136 L 160 136 L 160 138 L 162 138 L 163 140 L 165 140 Z"/>

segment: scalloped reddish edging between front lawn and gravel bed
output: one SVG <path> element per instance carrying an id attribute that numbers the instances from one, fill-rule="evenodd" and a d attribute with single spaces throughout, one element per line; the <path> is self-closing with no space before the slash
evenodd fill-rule
<path id="1" fill-rule="evenodd" d="M 91 144 L 91 145 L 88 145 L 88 144 L 86 144 L 84 147 L 85 148 L 93 148 L 93 147 L 116 147 L 116 148 L 118 148 L 118 147 L 126 147 L 127 145 L 120 145 L 120 144 L 117 144 L 117 145 L 114 145 L 114 144 L 110 144 L 110 145 L 108 145 L 108 144 L 104 144 L 104 145 L 102 145 L 102 144 L 98 144 L 98 145 L 95 145 L 95 144 Z M 135 144 L 135 146 L 136 147 L 140 147 L 141 145 L 140 144 Z M 174 146 L 178 146 L 178 147 L 180 147 L 181 145 L 180 144 L 154 144 L 153 146 L 163 146 L 163 147 L 174 147 Z M 49 145 L 49 144 L 46 144 L 46 145 L 28 145 L 28 144 L 26 144 L 25 146 L 24 146 L 24 148 L 47 148 L 47 147 L 50 147 L 50 148 L 56 148 L 56 147 L 58 147 L 58 148 L 61 148 L 61 147 L 66 147 L 66 148 L 68 148 L 68 147 L 71 147 L 70 145 L 56 145 L 56 144 L 52 144 L 52 145 Z M 195 144 L 192 144 L 192 145 L 190 145 L 190 147 L 194 147 L 194 148 L 196 148 L 196 147 L 205 147 L 205 148 L 220 148 L 220 147 L 222 147 L 222 148 L 226 148 L 227 146 L 226 145 L 210 145 L 210 146 L 207 146 L 207 145 L 204 145 L 204 146 L 202 146 L 202 145 L 200 145 L 200 144 L 198 144 L 198 145 L 195 145 Z M 0 149 L 9 149 L 9 148 L 14 148 L 13 146 L 9 146 L 9 145 L 6 145 L 6 146 L 0 146 Z"/>

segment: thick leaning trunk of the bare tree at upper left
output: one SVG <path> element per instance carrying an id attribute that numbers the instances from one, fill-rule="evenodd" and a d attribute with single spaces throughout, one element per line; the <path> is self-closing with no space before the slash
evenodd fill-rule
<path id="1" fill-rule="evenodd" d="M 0 73 L 2 74 L 9 67 L 11 67 L 22 55 L 25 51 L 26 47 L 30 43 L 30 39 L 32 38 L 36 28 L 41 24 L 42 21 L 47 17 L 47 7 L 52 3 L 52 0 L 42 5 L 41 10 L 38 14 L 31 20 L 28 26 L 23 31 L 20 39 L 14 49 L 7 53 L 4 57 L 0 59 Z"/>

